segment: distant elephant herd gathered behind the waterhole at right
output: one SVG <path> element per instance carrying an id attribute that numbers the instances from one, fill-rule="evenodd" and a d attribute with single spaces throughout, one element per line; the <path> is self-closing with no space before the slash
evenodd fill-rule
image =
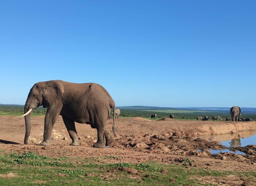
<path id="1" fill-rule="evenodd" d="M 240 118 L 241 115 L 241 109 L 240 107 L 234 106 L 230 109 L 231 117 L 227 118 L 221 118 L 220 116 L 213 116 L 213 121 L 220 120 L 220 121 L 252 121 L 251 118 Z M 211 120 L 210 116 L 205 116 L 205 118 L 202 118 L 201 116 L 196 117 L 196 120 L 202 120 L 202 121 L 209 121 Z"/>

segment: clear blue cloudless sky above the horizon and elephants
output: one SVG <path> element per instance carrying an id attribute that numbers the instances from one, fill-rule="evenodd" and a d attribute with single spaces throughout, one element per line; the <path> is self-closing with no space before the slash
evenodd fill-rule
<path id="1" fill-rule="evenodd" d="M 0 103 L 40 81 L 102 85 L 116 106 L 256 107 L 256 1 L 0 3 Z"/>

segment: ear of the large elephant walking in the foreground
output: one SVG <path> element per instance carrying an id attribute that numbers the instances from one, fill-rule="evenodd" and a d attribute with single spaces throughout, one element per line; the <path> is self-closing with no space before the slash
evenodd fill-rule
<path id="1" fill-rule="evenodd" d="M 59 81 L 46 82 L 43 95 L 43 107 L 46 108 L 59 100 L 64 93 L 64 87 Z"/>

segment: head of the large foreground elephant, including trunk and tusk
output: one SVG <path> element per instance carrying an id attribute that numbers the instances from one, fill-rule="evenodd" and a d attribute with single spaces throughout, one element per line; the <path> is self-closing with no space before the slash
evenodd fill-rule
<path id="1" fill-rule="evenodd" d="M 26 134 L 24 144 L 28 144 L 28 137 L 31 129 L 31 111 L 39 106 L 47 108 L 54 105 L 61 99 L 64 93 L 64 87 L 59 81 L 45 81 L 36 83 L 30 90 L 24 107 Z M 21 116 L 21 117 L 22 117 Z"/>

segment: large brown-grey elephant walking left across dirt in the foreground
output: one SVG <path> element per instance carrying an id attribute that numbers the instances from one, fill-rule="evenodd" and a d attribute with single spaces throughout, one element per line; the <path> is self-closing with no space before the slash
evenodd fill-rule
<path id="1" fill-rule="evenodd" d="M 54 123 L 59 115 L 72 139 L 70 145 L 79 146 L 75 122 L 90 124 L 97 129 L 98 141 L 93 147 L 105 148 L 114 141 L 112 134 L 106 128 L 106 122 L 111 114 L 111 108 L 115 112 L 115 102 L 109 93 L 96 83 L 69 83 L 61 80 L 36 83 L 30 90 L 24 107 L 26 134 L 24 144 L 28 144 L 31 129 L 32 109 L 43 105 L 47 108 L 44 118 L 43 142 L 40 145 L 50 145 L 50 139 Z M 115 114 L 115 113 L 114 113 Z M 115 117 L 113 117 L 112 130 L 115 134 Z"/>

